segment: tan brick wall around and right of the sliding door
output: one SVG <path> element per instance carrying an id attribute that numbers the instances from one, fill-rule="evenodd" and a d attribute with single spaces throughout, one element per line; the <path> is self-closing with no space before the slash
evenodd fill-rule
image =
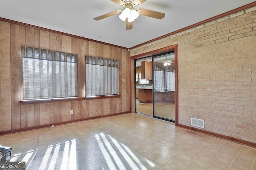
<path id="1" fill-rule="evenodd" d="M 178 120 L 256 143 L 256 7 L 130 50 L 178 44 Z"/>

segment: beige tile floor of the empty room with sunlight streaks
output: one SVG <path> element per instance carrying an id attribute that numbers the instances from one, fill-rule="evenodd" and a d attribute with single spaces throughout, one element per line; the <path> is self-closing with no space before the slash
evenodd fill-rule
<path id="1" fill-rule="evenodd" d="M 0 145 L 27 170 L 256 170 L 255 148 L 136 113 L 2 135 Z"/>

